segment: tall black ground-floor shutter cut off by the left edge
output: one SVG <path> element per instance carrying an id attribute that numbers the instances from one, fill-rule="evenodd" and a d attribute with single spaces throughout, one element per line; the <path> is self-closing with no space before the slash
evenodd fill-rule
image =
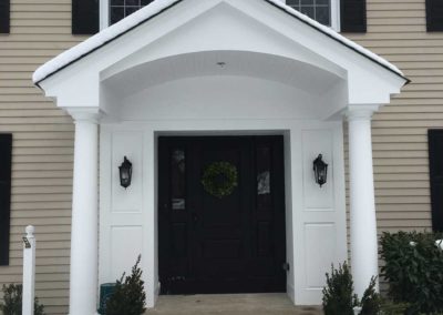
<path id="1" fill-rule="evenodd" d="M 12 134 L 0 134 L 0 266 L 9 265 Z"/>

